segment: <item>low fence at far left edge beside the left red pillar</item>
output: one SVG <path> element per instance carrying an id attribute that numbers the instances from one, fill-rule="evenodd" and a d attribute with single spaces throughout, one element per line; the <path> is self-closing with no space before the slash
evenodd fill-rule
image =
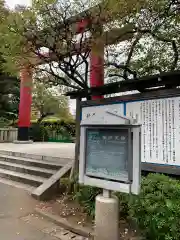
<path id="1" fill-rule="evenodd" d="M 0 128 L 0 142 L 13 142 L 17 140 L 17 128 Z"/>

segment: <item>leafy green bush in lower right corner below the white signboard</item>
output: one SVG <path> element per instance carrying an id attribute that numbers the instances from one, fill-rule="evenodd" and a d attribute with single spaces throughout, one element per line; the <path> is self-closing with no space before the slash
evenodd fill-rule
<path id="1" fill-rule="evenodd" d="M 142 180 L 139 196 L 128 200 L 129 214 L 146 239 L 180 239 L 180 182 L 161 174 Z"/>

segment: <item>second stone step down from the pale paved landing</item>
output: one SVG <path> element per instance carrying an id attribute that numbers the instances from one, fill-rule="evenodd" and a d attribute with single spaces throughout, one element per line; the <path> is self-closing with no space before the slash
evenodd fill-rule
<path id="1" fill-rule="evenodd" d="M 57 170 L 51 170 L 46 168 L 40 168 L 40 167 L 26 166 L 23 164 L 11 163 L 11 162 L 1 161 L 1 160 L 0 160 L 0 168 L 15 171 L 15 172 L 27 173 L 35 176 L 41 176 L 44 178 L 51 177 L 57 171 Z"/>

